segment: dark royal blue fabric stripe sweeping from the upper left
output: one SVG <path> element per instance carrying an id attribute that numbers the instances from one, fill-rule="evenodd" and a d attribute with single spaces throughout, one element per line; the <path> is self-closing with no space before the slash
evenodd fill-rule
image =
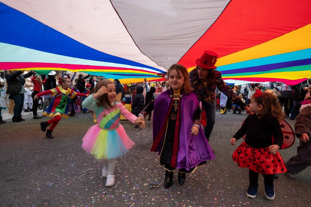
<path id="1" fill-rule="evenodd" d="M 0 19 L 0 28 L 2 28 L 0 42 L 2 43 L 63 56 L 120 63 L 164 72 L 148 65 L 112 56 L 88 47 L 1 2 Z"/>

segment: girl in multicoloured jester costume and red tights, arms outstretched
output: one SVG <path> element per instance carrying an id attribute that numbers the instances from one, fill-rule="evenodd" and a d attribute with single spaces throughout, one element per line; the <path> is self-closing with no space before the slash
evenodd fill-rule
<path id="1" fill-rule="evenodd" d="M 53 129 L 56 127 L 61 117 L 68 118 L 68 100 L 74 98 L 75 96 L 86 96 L 83 93 L 77 93 L 70 88 L 70 79 L 62 78 L 60 79 L 62 86 L 47 90 L 35 95 L 34 100 L 37 100 L 40 96 L 52 94 L 53 100 L 49 104 L 49 107 L 42 113 L 48 117 L 54 117 L 46 122 L 41 122 L 41 130 L 45 132 L 46 137 L 53 139 L 52 136 Z M 46 129 L 51 124 L 49 129 Z"/>

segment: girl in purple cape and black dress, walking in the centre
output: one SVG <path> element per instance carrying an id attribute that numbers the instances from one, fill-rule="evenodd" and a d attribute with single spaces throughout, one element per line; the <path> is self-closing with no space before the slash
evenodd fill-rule
<path id="1" fill-rule="evenodd" d="M 144 120 L 154 110 L 151 151 L 158 152 L 165 169 L 164 187 L 169 188 L 175 169 L 182 185 L 186 173 L 194 172 L 198 165 L 214 159 L 215 155 L 200 127 L 201 109 L 192 92 L 187 69 L 183 65 L 172 65 L 166 81 L 168 90 L 147 105 L 138 119 Z"/>

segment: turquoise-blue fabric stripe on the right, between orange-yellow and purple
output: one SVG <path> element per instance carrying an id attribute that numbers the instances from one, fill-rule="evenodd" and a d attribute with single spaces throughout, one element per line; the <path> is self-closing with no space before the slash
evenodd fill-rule
<path id="1" fill-rule="evenodd" d="M 281 63 L 281 62 L 297 61 L 297 60 L 308 59 L 308 58 L 311 58 L 311 48 L 304 49 L 304 50 L 298 50 L 294 52 L 288 52 L 288 53 L 279 54 L 279 55 L 262 57 L 262 58 L 249 60 L 249 61 L 233 63 L 229 65 L 222 65 L 222 66 L 218 66 L 217 70 L 218 71 L 234 70 L 234 69 L 240 69 L 240 68 L 260 66 L 260 65 L 269 65 L 269 64 L 275 64 L 275 63 Z"/>

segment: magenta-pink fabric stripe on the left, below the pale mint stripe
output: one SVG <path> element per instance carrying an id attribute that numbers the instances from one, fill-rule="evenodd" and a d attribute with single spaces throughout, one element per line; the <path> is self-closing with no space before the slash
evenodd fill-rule
<path id="1" fill-rule="evenodd" d="M 109 66 L 96 66 L 96 65 L 75 65 L 75 64 L 61 64 L 61 63 L 37 63 L 37 62 L 0 62 L 2 70 L 11 69 L 26 69 L 26 68 L 66 68 L 70 70 L 134 70 L 141 72 L 153 73 L 147 70 L 133 69 L 133 68 L 121 68 L 121 67 L 109 67 Z"/>

